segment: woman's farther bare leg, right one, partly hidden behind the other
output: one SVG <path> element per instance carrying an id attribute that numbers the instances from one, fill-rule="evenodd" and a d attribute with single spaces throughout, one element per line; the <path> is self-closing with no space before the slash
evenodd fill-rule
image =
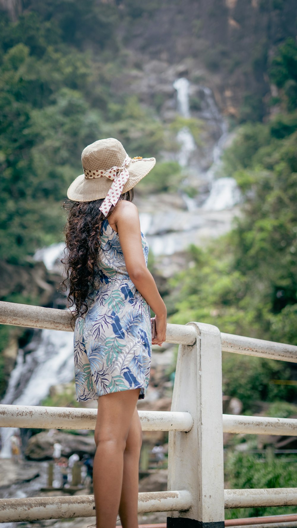
<path id="1" fill-rule="evenodd" d="M 135 409 L 124 450 L 123 482 L 119 507 L 123 528 L 138 528 L 138 468 L 141 442 L 141 423 L 137 409 Z"/>

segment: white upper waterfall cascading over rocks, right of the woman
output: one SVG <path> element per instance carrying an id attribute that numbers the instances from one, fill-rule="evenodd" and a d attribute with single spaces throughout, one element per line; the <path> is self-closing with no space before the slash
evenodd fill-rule
<path id="1" fill-rule="evenodd" d="M 184 118 L 190 118 L 188 79 L 179 78 L 173 83 L 177 93 L 177 110 Z M 175 159 L 185 169 L 187 175 L 180 183 L 178 194 L 183 203 L 173 201 L 164 203 L 164 199 L 156 195 L 149 208 L 143 203 L 146 213 L 150 215 L 147 223 L 147 238 L 149 246 L 156 257 L 160 257 L 159 266 L 164 276 L 170 276 L 176 269 L 174 256 L 183 252 L 189 244 L 203 246 L 205 241 L 226 233 L 231 228 L 234 216 L 233 208 L 240 201 L 240 194 L 233 178 L 217 178 L 221 165 L 221 156 L 226 143 L 232 140 L 234 133 L 228 132 L 227 122 L 222 117 L 216 105 L 212 90 L 199 85 L 195 87 L 197 99 L 200 100 L 198 117 L 205 122 L 209 132 L 209 144 L 203 148 L 197 147 L 188 127 L 183 127 L 177 134 L 180 145 Z M 193 91 L 193 93 L 194 93 Z M 172 108 L 170 106 L 170 108 Z M 206 134 L 207 135 L 207 134 Z M 215 143 L 211 139 L 217 137 Z M 172 153 L 164 153 L 164 159 L 173 159 Z M 204 167 L 209 165 L 208 169 Z M 188 188 L 195 188 L 198 194 L 191 197 Z M 210 191 L 209 191 L 210 188 Z M 186 210 L 183 206 L 186 206 Z M 164 258 L 163 258 L 164 257 Z M 177 260 L 178 262 L 178 257 Z"/>

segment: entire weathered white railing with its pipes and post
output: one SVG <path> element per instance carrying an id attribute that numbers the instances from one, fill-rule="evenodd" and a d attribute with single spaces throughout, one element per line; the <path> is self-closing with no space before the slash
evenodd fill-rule
<path id="1" fill-rule="evenodd" d="M 2 324 L 71 332 L 70 320 L 66 310 L 0 303 Z M 171 411 L 139 411 L 139 416 L 143 430 L 169 431 L 168 492 L 139 494 L 139 513 L 170 512 L 168 528 L 223 528 L 224 508 L 297 505 L 294 488 L 224 490 L 223 472 L 223 431 L 295 436 L 297 420 L 222 412 L 222 350 L 297 362 L 297 346 L 221 334 L 215 326 L 196 322 L 168 324 L 166 341 L 179 343 Z M 92 409 L 0 406 L 3 427 L 94 425 Z M 90 496 L 2 499 L 0 521 L 89 516 L 92 501 Z"/>

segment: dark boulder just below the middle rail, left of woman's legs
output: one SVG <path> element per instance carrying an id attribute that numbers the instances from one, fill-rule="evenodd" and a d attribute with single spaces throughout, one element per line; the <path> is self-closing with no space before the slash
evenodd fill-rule
<path id="1" fill-rule="evenodd" d="M 77 453 L 82 457 L 85 453 L 95 454 L 95 442 L 92 436 L 71 435 L 62 431 L 40 432 L 28 440 L 25 456 L 29 460 L 49 460 L 53 457 L 54 444 L 62 446 L 61 455 L 69 457 Z"/>

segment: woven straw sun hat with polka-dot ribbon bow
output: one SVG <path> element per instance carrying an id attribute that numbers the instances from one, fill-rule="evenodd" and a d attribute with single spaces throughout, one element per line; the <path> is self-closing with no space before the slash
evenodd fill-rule
<path id="1" fill-rule="evenodd" d="M 100 210 L 107 216 L 120 194 L 134 187 L 156 163 L 155 158 L 130 158 L 122 144 L 112 137 L 85 147 L 81 155 L 83 174 L 75 178 L 67 196 L 76 202 L 105 198 Z"/>

